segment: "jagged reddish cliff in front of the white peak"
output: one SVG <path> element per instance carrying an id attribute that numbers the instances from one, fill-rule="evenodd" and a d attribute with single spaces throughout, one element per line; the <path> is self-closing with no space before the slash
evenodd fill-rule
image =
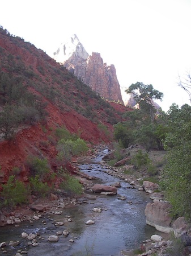
<path id="1" fill-rule="evenodd" d="M 74 54 L 64 63 L 64 66 L 70 70 L 73 68 L 74 75 L 84 84 L 89 85 L 101 97 L 123 103 L 114 65 L 108 66 L 103 63 L 100 53 L 96 52 L 92 52 L 92 55 L 86 60 L 82 58 L 76 60 L 77 56 Z"/>

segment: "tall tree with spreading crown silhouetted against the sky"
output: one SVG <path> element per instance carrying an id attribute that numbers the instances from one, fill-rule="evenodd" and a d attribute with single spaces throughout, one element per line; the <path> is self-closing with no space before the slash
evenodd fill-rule
<path id="1" fill-rule="evenodd" d="M 125 92 L 128 94 L 133 93 L 134 100 L 139 104 L 139 108 L 150 115 L 153 123 L 156 109 L 152 103 L 154 100 L 162 100 L 163 93 L 155 90 L 151 84 L 145 85 L 142 82 L 131 84 Z"/>

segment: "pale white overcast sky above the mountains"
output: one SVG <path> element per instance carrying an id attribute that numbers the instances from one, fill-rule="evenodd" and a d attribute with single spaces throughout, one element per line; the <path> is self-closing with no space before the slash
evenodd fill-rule
<path id="1" fill-rule="evenodd" d="M 76 34 L 88 54 L 114 65 L 124 98 L 138 81 L 164 94 L 165 112 L 190 104 L 178 82 L 191 72 L 191 0 L 0 2 L 0 25 L 50 56 Z"/>

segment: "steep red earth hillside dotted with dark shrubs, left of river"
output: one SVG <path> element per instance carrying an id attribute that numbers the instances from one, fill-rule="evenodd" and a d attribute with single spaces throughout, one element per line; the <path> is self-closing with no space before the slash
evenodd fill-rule
<path id="1" fill-rule="evenodd" d="M 26 111 L 27 119 L 33 113 L 32 122 L 24 121 L 23 114 L 19 115 L 22 122 L 12 125 L 12 139 L 5 140 L 5 134 L 0 130 L 0 166 L 3 174 L 2 177 L 0 175 L 0 191 L 12 168 L 21 170 L 20 180 L 28 176 L 26 159 L 30 155 L 47 159 L 50 169 L 56 171 L 57 129 L 65 127 L 91 144 L 108 143 L 113 139 L 113 125 L 124 121 L 121 114 L 129 111 L 121 104 L 97 97 L 89 86 L 41 49 L 18 36 L 11 36 L 1 27 L 0 67 L 0 117 L 8 100 L 15 111 L 18 108 L 22 110 L 18 113 Z M 7 77 L 9 82 L 5 84 L 2 77 Z M 11 90 L 10 81 L 14 81 Z M 25 95 L 27 100 L 23 98 Z M 16 101 L 18 97 L 20 100 Z M 32 98 L 35 99 L 34 105 L 24 105 Z M 18 102 L 17 105 L 15 102 Z M 43 118 L 40 118 L 40 113 L 44 113 Z M 98 124 L 107 129 L 107 134 Z"/>

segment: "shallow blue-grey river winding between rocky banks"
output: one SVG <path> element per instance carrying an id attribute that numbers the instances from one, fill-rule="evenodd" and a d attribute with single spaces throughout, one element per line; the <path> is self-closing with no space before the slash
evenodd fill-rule
<path id="1" fill-rule="evenodd" d="M 118 256 L 122 250 L 137 249 L 139 244 L 149 239 L 152 234 L 161 235 L 155 228 L 146 225 L 145 206 L 151 201 L 147 193 L 128 189 L 128 183 L 104 172 L 105 167 L 101 166 L 100 162 L 107 153 L 108 149 L 105 148 L 96 158 L 79 163 L 79 168 L 82 172 L 96 177 L 92 180 L 93 183 L 111 185 L 120 181 L 118 195 L 125 196 L 126 200 L 119 200 L 118 195 L 104 196 L 87 192 L 87 195 L 96 195 L 96 200 L 85 197 L 80 199 L 81 204 L 75 207 L 60 209 L 63 212 L 61 215 L 45 215 L 32 224 L 22 222 L 19 226 L 0 227 L 0 242 L 9 244 L 11 240 L 20 241 L 19 246 L 6 246 L 7 253 L 2 255 L 12 256 L 22 249 L 28 251 L 28 256 Z M 102 212 L 93 212 L 95 207 L 101 208 Z M 66 216 L 71 216 L 72 221 L 66 221 Z M 94 220 L 94 225 L 85 224 L 90 219 Z M 46 225 L 42 220 L 46 221 Z M 54 226 L 55 221 L 63 221 L 65 225 Z M 59 230 L 69 230 L 69 236 L 60 236 L 58 242 L 48 242 L 48 237 Z M 37 247 L 28 246 L 28 241 L 21 238 L 22 232 L 39 232 L 44 240 L 39 240 Z M 74 242 L 70 242 L 71 239 Z"/>

